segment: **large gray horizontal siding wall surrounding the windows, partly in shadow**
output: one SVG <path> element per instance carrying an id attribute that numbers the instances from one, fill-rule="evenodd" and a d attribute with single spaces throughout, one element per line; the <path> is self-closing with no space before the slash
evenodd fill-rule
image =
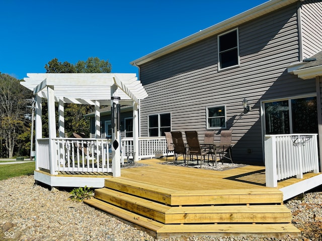
<path id="1" fill-rule="evenodd" d="M 206 107 L 226 106 L 227 129 L 233 131 L 236 161 L 261 162 L 260 101 L 315 91 L 314 80 L 287 73 L 299 61 L 297 6 L 293 5 L 238 27 L 240 66 L 218 72 L 217 36 L 140 66 L 148 93 L 141 102 L 141 136 L 147 136 L 147 116 L 170 112 L 172 130 L 206 131 Z M 241 101 L 252 110 L 243 114 Z M 220 130 L 216 130 L 219 141 Z M 251 149 L 251 153 L 248 153 Z"/>

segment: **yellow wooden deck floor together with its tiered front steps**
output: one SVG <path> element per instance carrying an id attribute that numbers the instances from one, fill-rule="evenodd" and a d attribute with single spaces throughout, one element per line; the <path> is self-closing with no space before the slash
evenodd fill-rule
<path id="1" fill-rule="evenodd" d="M 283 193 L 265 186 L 265 167 L 213 171 L 162 161 L 141 160 L 146 166 L 122 169 L 121 177 L 106 179 L 86 202 L 156 238 L 300 234 Z"/>

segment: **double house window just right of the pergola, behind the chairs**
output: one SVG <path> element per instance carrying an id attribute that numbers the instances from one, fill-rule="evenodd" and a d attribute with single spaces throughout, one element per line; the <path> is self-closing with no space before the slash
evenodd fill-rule
<path id="1" fill-rule="evenodd" d="M 165 132 L 171 131 L 171 114 L 151 114 L 148 116 L 149 137 L 162 137 Z"/>

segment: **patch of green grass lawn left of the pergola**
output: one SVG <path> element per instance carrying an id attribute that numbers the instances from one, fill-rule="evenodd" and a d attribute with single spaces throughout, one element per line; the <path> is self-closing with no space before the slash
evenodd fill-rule
<path id="1" fill-rule="evenodd" d="M 23 175 L 33 175 L 34 170 L 35 162 L 0 165 L 0 180 Z"/>

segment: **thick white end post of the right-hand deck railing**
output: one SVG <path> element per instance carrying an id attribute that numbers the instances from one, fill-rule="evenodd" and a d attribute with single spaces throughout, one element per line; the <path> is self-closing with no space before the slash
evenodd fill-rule
<path id="1" fill-rule="evenodd" d="M 276 137 L 265 136 L 265 176 L 267 187 L 277 187 Z"/>

